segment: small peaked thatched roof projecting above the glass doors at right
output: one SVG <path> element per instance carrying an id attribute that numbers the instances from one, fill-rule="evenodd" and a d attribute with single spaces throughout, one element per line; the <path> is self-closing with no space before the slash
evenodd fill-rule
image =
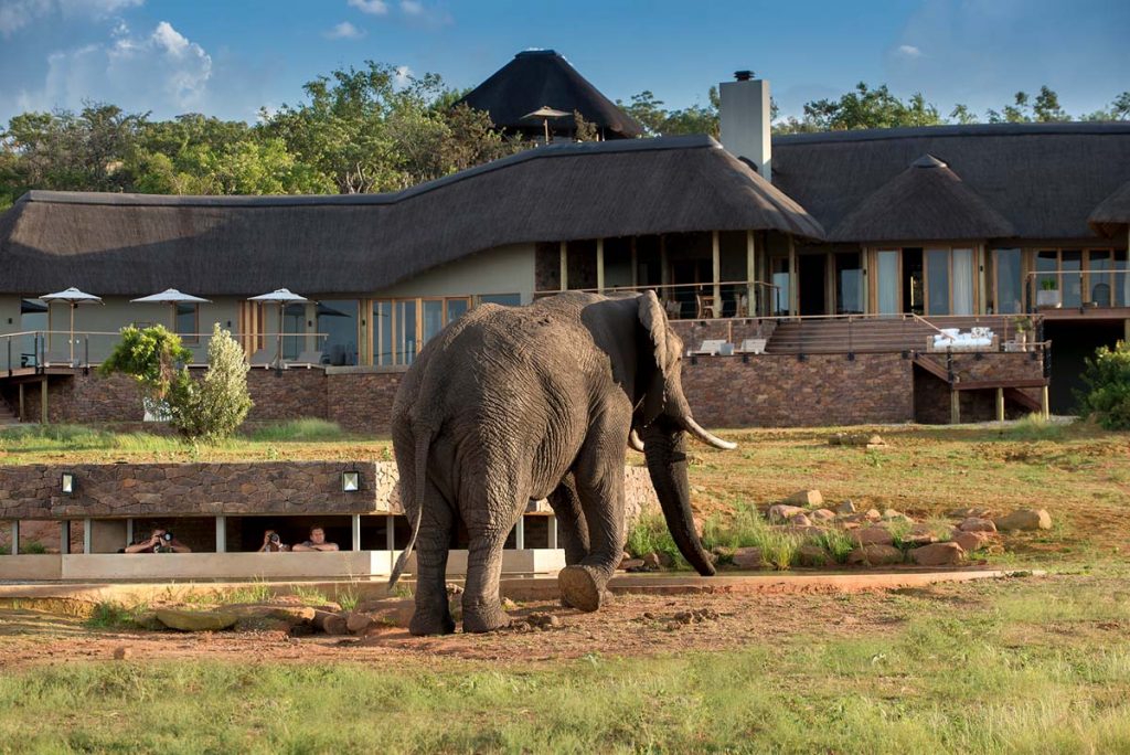
<path id="1" fill-rule="evenodd" d="M 831 241 L 941 241 L 1016 235 L 956 173 L 923 155 L 849 212 L 828 234 Z"/>

